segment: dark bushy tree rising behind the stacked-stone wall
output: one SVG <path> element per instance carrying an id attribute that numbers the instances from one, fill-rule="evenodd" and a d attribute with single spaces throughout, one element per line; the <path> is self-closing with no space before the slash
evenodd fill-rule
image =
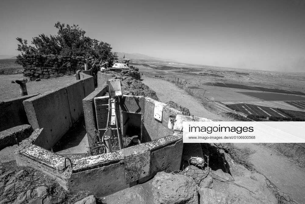
<path id="1" fill-rule="evenodd" d="M 33 46 L 28 45 L 27 40 L 16 38 L 19 42 L 17 50 L 21 52 L 21 55 L 17 56 L 17 63 L 23 64 L 24 54 L 94 56 L 109 62 L 117 59 L 117 53 L 111 51 L 110 44 L 85 36 L 86 32 L 78 25 L 57 22 L 54 27 L 58 29 L 57 35 L 40 34 L 33 38 Z"/>

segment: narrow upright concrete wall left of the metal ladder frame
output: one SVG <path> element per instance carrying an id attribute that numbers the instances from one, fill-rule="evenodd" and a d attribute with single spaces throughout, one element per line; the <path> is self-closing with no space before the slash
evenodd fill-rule
<path id="1" fill-rule="evenodd" d="M 98 137 L 96 131 L 97 126 L 93 98 L 105 95 L 107 90 L 107 86 L 98 87 L 95 91 L 93 91 L 91 94 L 89 94 L 86 98 L 82 100 L 89 147 L 93 147 L 96 145 Z"/>

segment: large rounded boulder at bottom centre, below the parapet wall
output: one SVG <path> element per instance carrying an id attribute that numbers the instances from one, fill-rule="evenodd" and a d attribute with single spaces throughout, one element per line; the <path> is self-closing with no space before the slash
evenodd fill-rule
<path id="1" fill-rule="evenodd" d="M 154 203 L 198 203 L 196 183 L 184 175 L 158 172 L 152 179 Z"/>

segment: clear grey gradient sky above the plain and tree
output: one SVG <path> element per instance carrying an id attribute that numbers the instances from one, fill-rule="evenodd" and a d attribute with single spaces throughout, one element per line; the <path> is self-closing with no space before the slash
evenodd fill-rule
<path id="1" fill-rule="evenodd" d="M 305 72 L 305 1 L 0 0 L 0 54 L 78 24 L 113 51 L 240 69 Z"/>

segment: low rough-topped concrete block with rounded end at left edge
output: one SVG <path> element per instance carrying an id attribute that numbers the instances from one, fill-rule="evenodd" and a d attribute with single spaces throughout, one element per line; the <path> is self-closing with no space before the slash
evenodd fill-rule
<path id="1" fill-rule="evenodd" d="M 32 132 L 33 128 L 27 124 L 18 125 L 0 132 L 0 150 L 17 144 L 16 138 L 21 142 L 23 139 L 28 138 Z"/>

